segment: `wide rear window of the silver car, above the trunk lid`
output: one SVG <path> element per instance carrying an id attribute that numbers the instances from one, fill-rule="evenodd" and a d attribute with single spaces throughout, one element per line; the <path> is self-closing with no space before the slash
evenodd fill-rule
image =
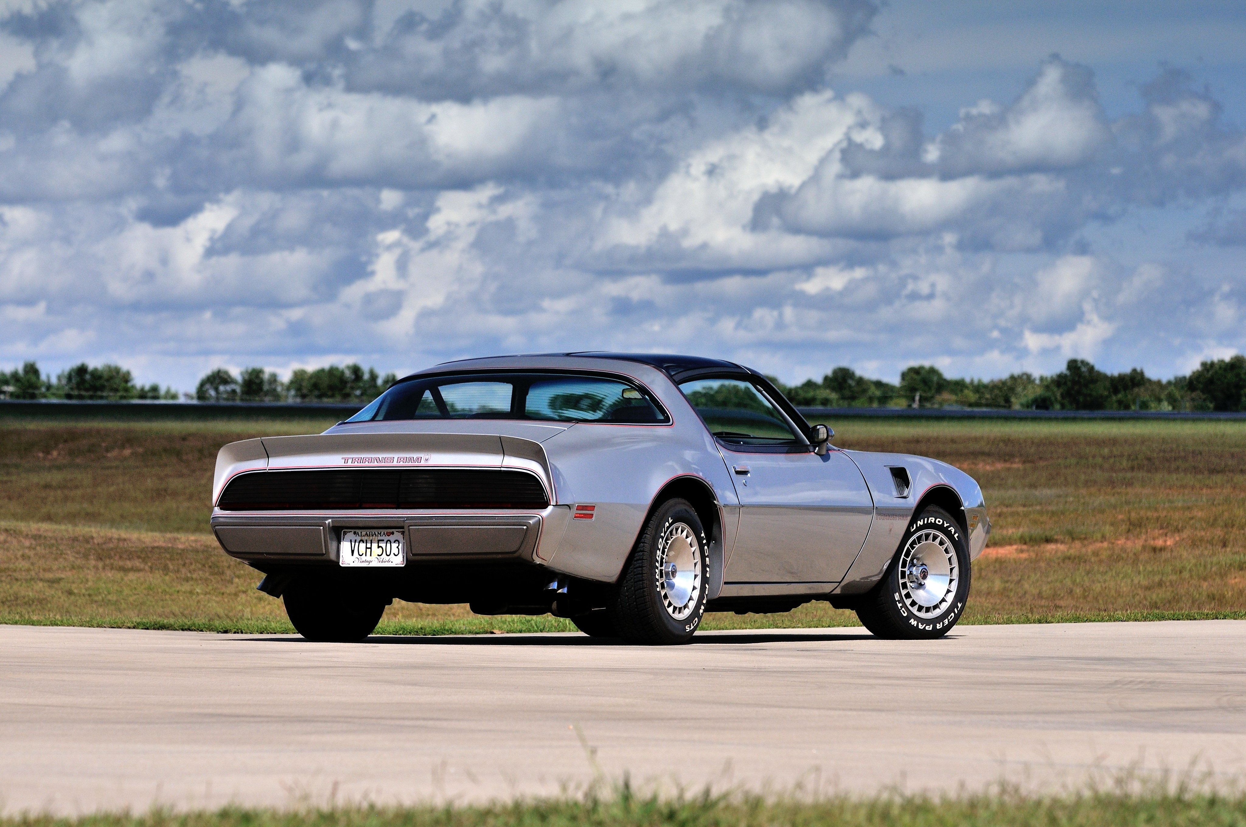
<path id="1" fill-rule="evenodd" d="M 537 420 L 662 425 L 667 412 L 624 380 L 578 374 L 472 374 L 400 382 L 346 420 Z"/>

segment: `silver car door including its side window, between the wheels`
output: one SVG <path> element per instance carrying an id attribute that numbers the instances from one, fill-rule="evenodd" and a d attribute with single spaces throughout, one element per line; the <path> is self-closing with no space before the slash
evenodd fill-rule
<path id="1" fill-rule="evenodd" d="M 714 433 L 740 499 L 726 583 L 837 583 L 873 518 L 856 465 L 819 456 L 766 392 L 745 379 L 680 389 Z"/>

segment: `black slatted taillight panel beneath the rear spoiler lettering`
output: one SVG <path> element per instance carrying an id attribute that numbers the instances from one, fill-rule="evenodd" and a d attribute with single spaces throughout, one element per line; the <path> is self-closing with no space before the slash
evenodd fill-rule
<path id="1" fill-rule="evenodd" d="M 223 511 L 320 508 L 545 508 L 541 481 L 523 471 L 258 471 L 234 477 Z"/>

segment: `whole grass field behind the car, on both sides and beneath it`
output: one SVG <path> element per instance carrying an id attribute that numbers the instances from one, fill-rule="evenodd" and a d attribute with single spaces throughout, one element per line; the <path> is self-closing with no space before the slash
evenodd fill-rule
<path id="1" fill-rule="evenodd" d="M 0 621 L 288 631 L 208 529 L 221 445 L 330 421 L 0 423 Z M 831 423 L 842 447 L 933 456 L 982 483 L 994 536 L 966 623 L 1246 618 L 1246 422 Z M 814 603 L 705 628 L 850 625 Z M 380 633 L 571 630 L 396 603 Z"/>

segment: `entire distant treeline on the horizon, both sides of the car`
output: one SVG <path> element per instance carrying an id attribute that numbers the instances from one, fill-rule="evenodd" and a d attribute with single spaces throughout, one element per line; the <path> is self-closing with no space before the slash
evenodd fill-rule
<path id="1" fill-rule="evenodd" d="M 379 375 L 360 365 L 297 369 L 282 381 L 263 367 L 244 367 L 238 375 L 224 367 L 199 380 L 201 402 L 356 402 L 366 404 L 397 376 Z M 773 379 L 773 377 L 771 377 Z M 1037 409 L 1043 411 L 1246 411 L 1246 356 L 1202 362 L 1189 376 L 1151 379 L 1141 369 L 1106 374 L 1083 359 L 1070 359 L 1052 376 L 1013 374 L 1004 379 L 952 379 L 932 365 L 906 367 L 900 384 L 836 367 L 821 381 L 800 385 L 775 381 L 792 404 L 802 407 L 978 407 Z M 11 372 L 0 371 L 0 395 L 6 399 L 176 400 L 177 391 L 158 385 L 136 385 L 118 365 L 91 367 L 86 362 L 54 380 L 35 362 Z"/>

